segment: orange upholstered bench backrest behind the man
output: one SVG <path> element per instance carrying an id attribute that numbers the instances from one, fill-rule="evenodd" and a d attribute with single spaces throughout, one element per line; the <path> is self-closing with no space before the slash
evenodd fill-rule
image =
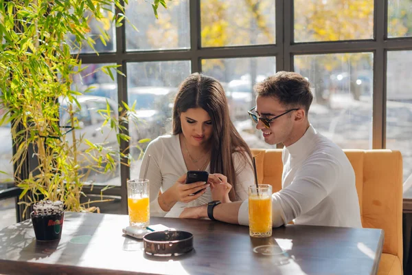
<path id="1" fill-rule="evenodd" d="M 344 150 L 356 176 L 364 228 L 385 231 L 383 252 L 402 262 L 402 155 L 391 150 Z M 260 184 L 282 189 L 282 149 L 252 149 Z"/>

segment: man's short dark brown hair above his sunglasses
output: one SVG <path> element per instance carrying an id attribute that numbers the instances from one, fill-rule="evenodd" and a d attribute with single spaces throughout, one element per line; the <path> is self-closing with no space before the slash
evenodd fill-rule
<path id="1" fill-rule="evenodd" d="M 285 107 L 304 108 L 308 115 L 313 96 L 309 81 L 295 72 L 277 72 L 255 85 L 256 96 L 271 96 Z"/>

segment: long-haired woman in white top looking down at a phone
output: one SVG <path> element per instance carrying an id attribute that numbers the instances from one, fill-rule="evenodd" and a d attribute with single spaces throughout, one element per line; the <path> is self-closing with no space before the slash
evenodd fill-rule
<path id="1" fill-rule="evenodd" d="M 254 180 L 251 151 L 229 118 L 225 91 L 216 79 L 196 73 L 183 80 L 172 128 L 172 135 L 150 142 L 141 164 L 144 175 L 151 156 L 146 177 L 152 216 L 179 217 L 185 207 L 247 199 Z M 187 170 L 206 170 L 209 180 L 185 184 Z"/>

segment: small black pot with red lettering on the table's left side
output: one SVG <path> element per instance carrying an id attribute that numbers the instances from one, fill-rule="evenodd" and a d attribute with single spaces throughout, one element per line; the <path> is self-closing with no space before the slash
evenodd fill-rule
<path id="1" fill-rule="evenodd" d="M 34 234 L 38 241 L 53 241 L 62 236 L 65 212 L 47 216 L 37 216 L 31 212 L 30 217 L 32 217 Z"/>

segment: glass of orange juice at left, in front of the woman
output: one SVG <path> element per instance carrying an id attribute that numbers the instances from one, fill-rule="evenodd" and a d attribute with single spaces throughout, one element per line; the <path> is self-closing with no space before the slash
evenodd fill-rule
<path id="1" fill-rule="evenodd" d="M 127 204 L 130 226 L 146 228 L 150 223 L 148 179 L 127 181 Z"/>

